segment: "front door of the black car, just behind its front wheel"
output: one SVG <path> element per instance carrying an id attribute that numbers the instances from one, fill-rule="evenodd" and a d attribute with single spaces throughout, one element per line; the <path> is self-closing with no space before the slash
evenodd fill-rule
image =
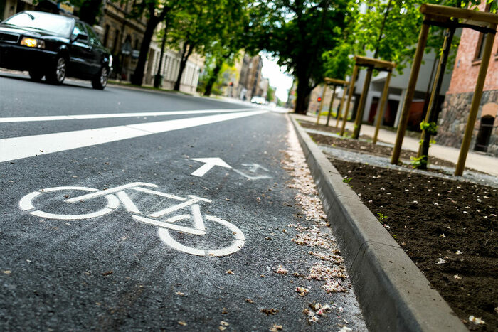
<path id="1" fill-rule="evenodd" d="M 75 76 L 88 76 L 92 69 L 89 61 L 92 58 L 92 45 L 88 38 L 87 40 L 78 39 L 79 35 L 88 36 L 88 32 L 83 23 L 76 21 L 71 34 L 70 70 Z"/>

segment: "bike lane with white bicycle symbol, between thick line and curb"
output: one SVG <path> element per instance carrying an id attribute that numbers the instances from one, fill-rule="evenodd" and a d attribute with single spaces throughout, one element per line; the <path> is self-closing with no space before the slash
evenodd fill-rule
<path id="1" fill-rule="evenodd" d="M 6 328 L 365 329 L 282 114 L 0 167 L 0 324 Z M 111 192 L 136 182 L 155 186 Z M 39 191 L 59 186 L 107 190 L 114 198 L 71 204 L 63 200 L 92 192 Z M 19 205 L 35 192 L 33 206 Z M 192 196 L 203 200 L 181 206 Z M 105 208 L 75 220 L 34 213 L 89 215 Z M 201 224 L 206 234 L 189 233 Z M 232 253 L 216 251 L 234 244 Z"/>

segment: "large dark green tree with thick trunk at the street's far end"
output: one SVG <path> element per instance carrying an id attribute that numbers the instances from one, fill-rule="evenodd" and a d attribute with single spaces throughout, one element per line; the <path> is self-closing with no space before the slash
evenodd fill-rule
<path id="1" fill-rule="evenodd" d="M 346 0 L 262 0 L 253 6 L 250 47 L 267 50 L 295 76 L 295 112 L 307 112 L 309 93 L 324 79 L 322 53 L 336 46 L 349 15 L 347 4 Z"/>

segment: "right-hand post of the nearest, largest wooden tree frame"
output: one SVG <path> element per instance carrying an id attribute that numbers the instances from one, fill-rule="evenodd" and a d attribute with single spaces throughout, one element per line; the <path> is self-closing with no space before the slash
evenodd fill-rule
<path id="1" fill-rule="evenodd" d="M 491 24 L 490 27 L 496 30 L 497 24 Z M 457 167 L 455 169 L 455 176 L 462 176 L 463 169 L 465 168 L 465 161 L 467 160 L 467 153 L 469 152 L 470 140 L 472 139 L 472 132 L 474 131 L 475 119 L 479 111 L 481 103 L 482 89 L 484 87 L 484 80 L 486 80 L 487 68 L 489 65 L 489 58 L 493 48 L 495 33 L 487 33 L 486 43 L 482 52 L 482 60 L 479 68 L 479 75 L 475 84 L 474 96 L 472 96 L 472 104 L 470 105 L 469 117 L 467 118 L 467 126 L 465 127 L 465 134 L 463 135 L 462 146 L 460 147 L 460 155 L 458 156 Z"/>

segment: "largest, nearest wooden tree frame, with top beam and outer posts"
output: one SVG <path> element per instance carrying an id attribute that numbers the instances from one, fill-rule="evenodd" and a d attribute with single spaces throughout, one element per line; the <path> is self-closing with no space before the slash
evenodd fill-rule
<path id="1" fill-rule="evenodd" d="M 418 72 L 422 63 L 423 51 L 427 43 L 428 32 L 430 26 L 443 26 L 447 28 L 471 28 L 482 33 L 486 33 L 486 41 L 484 42 L 484 50 L 482 52 L 482 60 L 477 75 L 477 82 L 475 85 L 474 95 L 472 96 L 472 103 L 470 105 L 469 117 L 467 118 L 467 125 L 460 147 L 460 155 L 458 156 L 457 166 L 455 168 L 455 176 L 462 176 L 465 168 L 465 161 L 469 152 L 470 141 L 472 140 L 472 132 L 479 111 L 479 105 L 482 97 L 482 90 L 484 88 L 484 80 L 486 79 L 487 68 L 489 66 L 489 59 L 491 58 L 494 36 L 496 35 L 498 25 L 498 15 L 486 13 L 482 11 L 472 11 L 470 9 L 460 9 L 455 7 L 440 6 L 433 4 L 423 4 L 420 6 L 420 12 L 424 15 L 422 28 L 418 37 L 417 50 L 415 51 L 415 58 L 410 73 L 410 80 L 408 80 L 408 88 L 406 90 L 405 100 L 403 101 L 403 108 L 401 110 L 400 123 L 398 125 L 398 132 L 396 134 L 396 142 L 394 144 L 393 155 L 391 156 L 391 164 L 398 164 L 399 156 L 401 154 L 401 146 L 408 124 L 408 115 L 410 105 L 415 94 L 415 85 L 417 83 Z"/>

